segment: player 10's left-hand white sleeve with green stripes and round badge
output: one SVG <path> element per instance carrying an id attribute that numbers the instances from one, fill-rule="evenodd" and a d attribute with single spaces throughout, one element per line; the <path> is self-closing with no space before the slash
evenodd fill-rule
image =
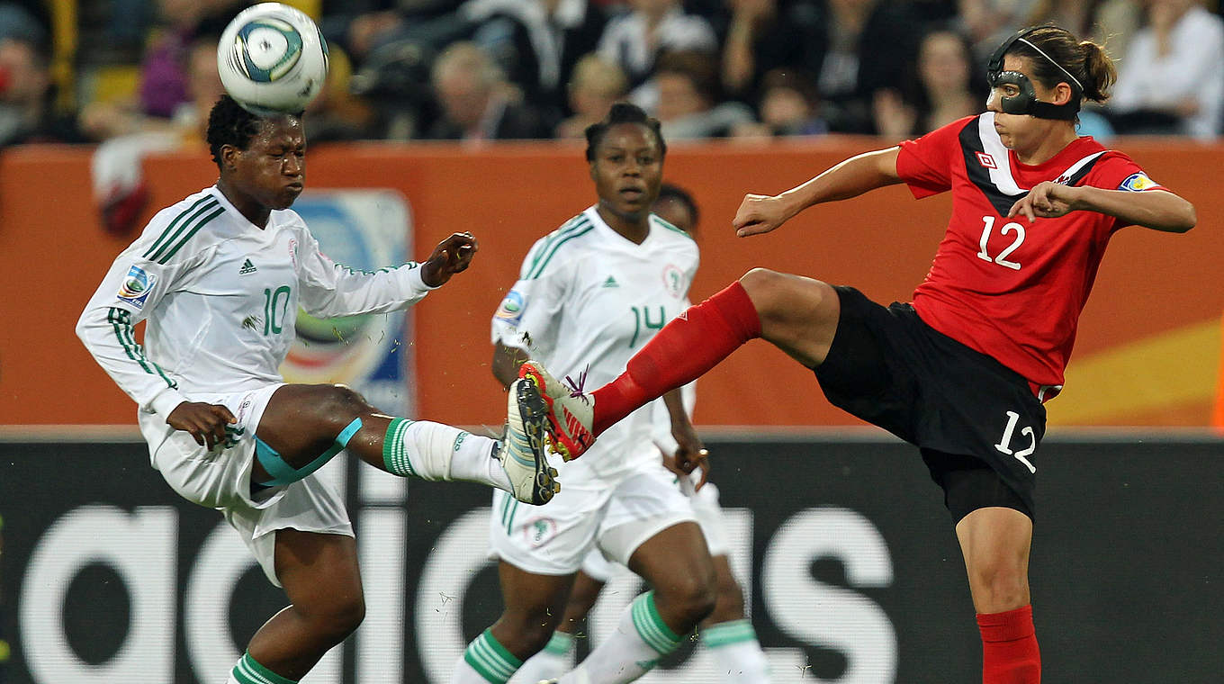
<path id="1" fill-rule="evenodd" d="M 142 410 L 168 416 L 187 398 L 137 344 L 135 327 L 175 291 L 190 263 L 182 252 L 159 256 L 151 232 L 147 230 L 110 266 L 81 313 L 76 333 L 98 365 Z"/>

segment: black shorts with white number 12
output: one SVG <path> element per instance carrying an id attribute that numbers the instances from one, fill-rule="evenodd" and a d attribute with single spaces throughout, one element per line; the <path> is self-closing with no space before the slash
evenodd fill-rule
<path id="1" fill-rule="evenodd" d="M 815 370 L 829 401 L 917 445 L 956 521 L 994 505 L 1033 518 L 1045 407 L 1028 381 L 936 332 L 908 303 L 884 307 L 835 289 L 837 333 Z"/>

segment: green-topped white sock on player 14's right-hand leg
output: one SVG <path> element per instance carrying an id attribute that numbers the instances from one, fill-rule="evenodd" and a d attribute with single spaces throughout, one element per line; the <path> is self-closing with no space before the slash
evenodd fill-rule
<path id="1" fill-rule="evenodd" d="M 646 674 L 681 644 L 655 607 L 655 592 L 633 600 L 616 631 L 561 678 L 561 684 L 624 684 Z"/>

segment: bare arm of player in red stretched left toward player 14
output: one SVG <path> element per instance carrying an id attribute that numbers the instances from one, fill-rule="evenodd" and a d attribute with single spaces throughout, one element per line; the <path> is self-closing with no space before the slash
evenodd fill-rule
<path id="1" fill-rule="evenodd" d="M 736 235 L 759 235 L 778 228 L 813 204 L 858 197 L 869 190 L 901 182 L 900 147 L 867 152 L 832 166 L 781 195 L 747 195 L 731 224 Z"/>

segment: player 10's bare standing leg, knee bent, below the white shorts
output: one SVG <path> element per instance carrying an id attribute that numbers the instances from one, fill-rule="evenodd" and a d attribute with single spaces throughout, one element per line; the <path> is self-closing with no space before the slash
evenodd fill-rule
<path id="1" fill-rule="evenodd" d="M 278 530 L 275 564 L 290 604 L 255 633 L 230 684 L 293 684 L 365 618 L 353 537 Z"/>

